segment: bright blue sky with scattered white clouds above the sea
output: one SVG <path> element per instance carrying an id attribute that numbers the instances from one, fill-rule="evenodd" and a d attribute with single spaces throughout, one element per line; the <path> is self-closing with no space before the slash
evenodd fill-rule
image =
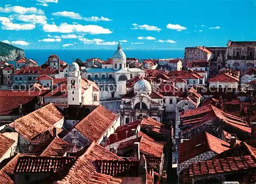
<path id="1" fill-rule="evenodd" d="M 184 49 L 256 40 L 255 0 L 1 0 L 0 40 L 24 49 Z"/>

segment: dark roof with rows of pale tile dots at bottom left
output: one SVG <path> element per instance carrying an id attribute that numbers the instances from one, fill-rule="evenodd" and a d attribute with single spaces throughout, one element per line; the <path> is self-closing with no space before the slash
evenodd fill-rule
<path id="1" fill-rule="evenodd" d="M 20 156 L 14 169 L 15 173 L 43 173 L 57 171 L 75 157 L 52 157 L 52 156 Z"/>

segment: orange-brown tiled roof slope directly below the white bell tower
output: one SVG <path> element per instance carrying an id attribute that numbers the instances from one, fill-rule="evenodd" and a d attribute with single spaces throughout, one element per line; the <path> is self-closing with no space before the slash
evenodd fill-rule
<path id="1" fill-rule="evenodd" d="M 79 121 L 75 128 L 90 141 L 97 142 L 116 119 L 116 114 L 100 105 Z"/>

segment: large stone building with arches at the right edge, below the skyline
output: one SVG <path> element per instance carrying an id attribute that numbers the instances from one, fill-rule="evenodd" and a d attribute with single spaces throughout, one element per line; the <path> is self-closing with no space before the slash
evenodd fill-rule
<path id="1" fill-rule="evenodd" d="M 231 41 L 227 43 L 226 68 L 247 70 L 256 67 L 256 41 Z"/>

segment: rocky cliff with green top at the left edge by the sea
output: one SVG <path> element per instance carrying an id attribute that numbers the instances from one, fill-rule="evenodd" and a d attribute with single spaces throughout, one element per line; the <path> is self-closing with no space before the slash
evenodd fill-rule
<path id="1" fill-rule="evenodd" d="M 25 57 L 23 49 L 0 42 L 0 61 L 15 61 Z"/>

